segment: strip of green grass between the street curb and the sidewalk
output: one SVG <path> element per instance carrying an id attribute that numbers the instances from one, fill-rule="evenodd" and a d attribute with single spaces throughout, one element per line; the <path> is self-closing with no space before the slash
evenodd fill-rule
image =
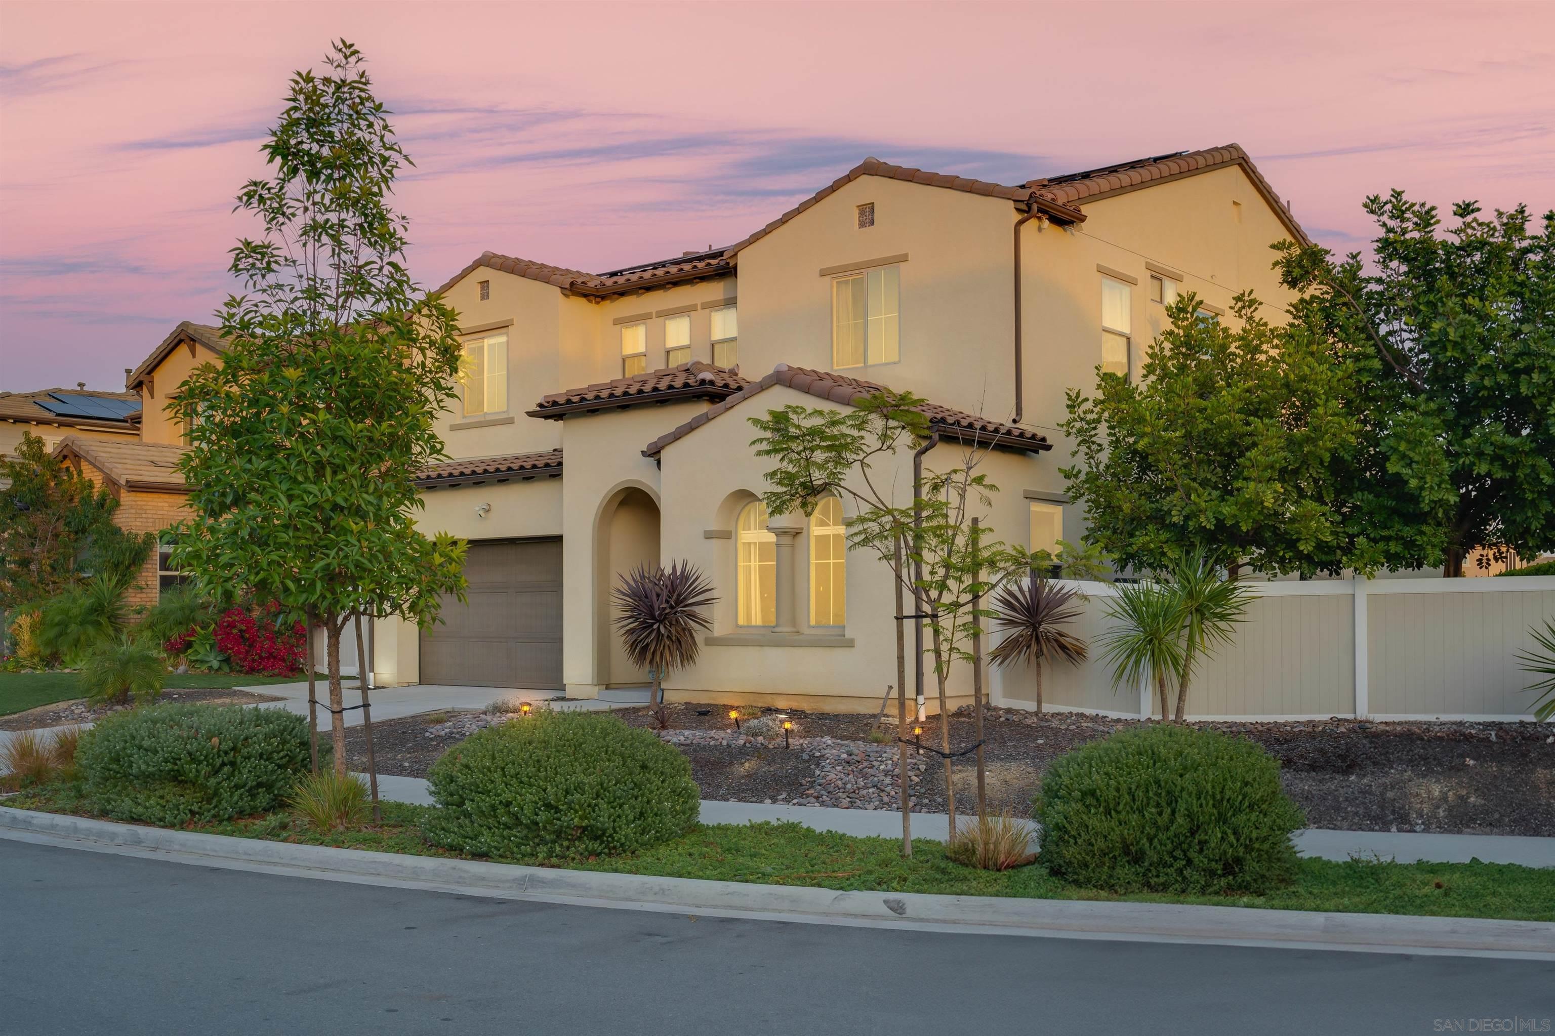
<path id="1" fill-rule="evenodd" d="M 5 804 L 75 812 L 79 801 L 70 790 L 73 787 L 45 786 Z M 381 826 L 351 832 L 319 834 L 285 812 L 196 829 L 381 852 L 459 856 L 429 846 L 421 838 L 420 823 L 429 809 L 432 807 L 384 803 Z M 855 838 L 812 831 L 798 823 L 718 824 L 698 828 L 684 838 L 645 852 L 572 862 L 566 866 L 837 890 L 1555 921 L 1555 868 L 1504 863 L 1336 863 L 1305 859 L 1297 880 L 1267 896 L 1115 896 L 1068 885 L 1048 874 L 1040 862 L 994 873 L 953 863 L 938 842 L 917 840 L 913 849 L 913 859 L 903 860 L 900 843 L 893 838 Z M 543 860 L 501 862 L 546 865 Z"/>

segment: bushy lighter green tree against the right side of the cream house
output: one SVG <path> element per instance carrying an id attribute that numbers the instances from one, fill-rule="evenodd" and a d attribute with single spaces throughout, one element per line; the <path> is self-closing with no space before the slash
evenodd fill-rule
<path id="1" fill-rule="evenodd" d="M 1143 378 L 1098 373 L 1095 397 L 1070 390 L 1062 473 L 1087 541 L 1141 571 L 1200 549 L 1232 571 L 1302 576 L 1409 558 L 1409 524 L 1367 506 L 1351 369 L 1311 328 L 1258 310 L 1241 294 L 1235 324 L 1213 320 L 1186 294 Z"/>

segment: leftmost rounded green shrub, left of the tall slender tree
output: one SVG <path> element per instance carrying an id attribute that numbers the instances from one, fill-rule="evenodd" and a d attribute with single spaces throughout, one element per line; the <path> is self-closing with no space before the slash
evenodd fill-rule
<path id="1" fill-rule="evenodd" d="M 283 709 L 152 705 L 81 734 L 87 800 L 115 820 L 176 826 L 280 806 L 308 768 L 308 720 Z"/>

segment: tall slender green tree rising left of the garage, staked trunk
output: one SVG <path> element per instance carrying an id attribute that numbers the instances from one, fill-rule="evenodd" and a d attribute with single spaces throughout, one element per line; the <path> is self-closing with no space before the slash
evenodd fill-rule
<path id="1" fill-rule="evenodd" d="M 341 632 L 353 614 L 429 625 L 463 594 L 463 543 L 415 529 L 412 479 L 445 456 L 435 422 L 459 376 L 457 314 L 403 266 L 389 205 L 409 163 L 362 56 L 299 72 L 238 208 L 263 235 L 232 249 L 221 366 L 197 367 L 182 470 L 194 516 L 176 563 L 322 627 L 334 767 L 345 770 Z"/>

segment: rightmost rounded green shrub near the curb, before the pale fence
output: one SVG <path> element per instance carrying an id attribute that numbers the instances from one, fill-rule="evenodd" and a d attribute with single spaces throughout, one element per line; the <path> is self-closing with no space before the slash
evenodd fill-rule
<path id="1" fill-rule="evenodd" d="M 1109 891 L 1263 893 L 1295 876 L 1302 810 L 1241 737 L 1144 726 L 1061 756 L 1033 803 L 1042 862 Z"/>

